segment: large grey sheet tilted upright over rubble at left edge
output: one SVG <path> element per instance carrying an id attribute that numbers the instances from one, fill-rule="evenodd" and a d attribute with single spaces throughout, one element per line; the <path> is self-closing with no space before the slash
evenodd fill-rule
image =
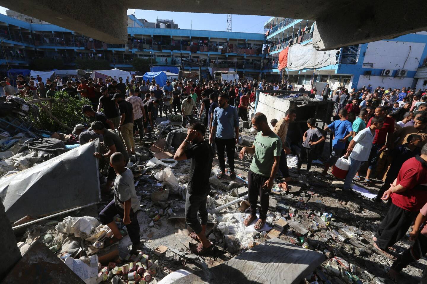
<path id="1" fill-rule="evenodd" d="M 0 199 L 13 223 L 101 200 L 98 140 L 0 179 Z"/>

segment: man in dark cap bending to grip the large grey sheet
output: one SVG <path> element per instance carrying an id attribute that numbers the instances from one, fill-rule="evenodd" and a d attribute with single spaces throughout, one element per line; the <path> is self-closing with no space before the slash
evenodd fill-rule
<path id="1" fill-rule="evenodd" d="M 125 158 L 125 165 L 129 162 L 129 154 L 126 151 L 125 145 L 123 144 L 122 139 L 117 135 L 114 130 L 105 129 L 104 123 L 101 121 L 94 121 L 91 123 L 91 129 L 98 135 L 102 135 L 102 139 L 104 140 L 104 145 L 108 148 L 108 152 L 105 154 L 94 153 L 94 157 L 98 159 L 102 158 L 110 158 L 110 156 L 115 152 L 120 152 L 123 154 Z M 111 185 L 113 184 L 114 179 L 116 178 L 116 173 L 114 172 L 113 167 L 108 165 L 107 169 L 107 184 L 105 186 L 104 192 L 109 193 Z"/>

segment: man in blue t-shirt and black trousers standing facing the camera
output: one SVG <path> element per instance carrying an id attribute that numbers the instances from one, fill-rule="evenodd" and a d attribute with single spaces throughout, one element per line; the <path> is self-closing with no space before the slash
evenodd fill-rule
<path id="1" fill-rule="evenodd" d="M 216 153 L 218 154 L 219 179 L 225 174 L 224 148 L 227 152 L 228 164 L 230 166 L 230 178 L 235 179 L 234 173 L 234 152 L 239 141 L 239 116 L 237 107 L 228 105 L 228 96 L 220 94 L 218 107 L 213 111 L 212 132 L 209 135 L 209 142 L 215 142 Z"/>

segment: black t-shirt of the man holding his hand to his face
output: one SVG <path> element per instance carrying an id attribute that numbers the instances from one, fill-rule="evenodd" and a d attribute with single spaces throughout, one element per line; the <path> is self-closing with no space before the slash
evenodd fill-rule
<path id="1" fill-rule="evenodd" d="M 191 160 L 187 192 L 192 195 L 205 195 L 211 190 L 209 178 L 212 171 L 213 149 L 207 141 L 203 141 L 185 150 L 185 155 Z"/>

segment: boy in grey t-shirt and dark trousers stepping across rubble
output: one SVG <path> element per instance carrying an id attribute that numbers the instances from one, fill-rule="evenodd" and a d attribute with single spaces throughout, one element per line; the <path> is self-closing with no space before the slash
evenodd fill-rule
<path id="1" fill-rule="evenodd" d="M 141 242 L 136 213 L 140 209 L 140 202 L 135 191 L 133 173 L 126 168 L 125 157 L 120 152 L 111 155 L 110 166 L 116 172 L 114 199 L 99 213 L 99 220 L 102 225 L 107 225 L 111 229 L 113 237 L 105 240 L 104 247 L 108 247 L 123 238 L 114 221 L 114 216 L 119 215 L 120 218 L 123 218 L 123 224 L 125 224 L 132 241 L 131 252 L 136 252 Z"/>

